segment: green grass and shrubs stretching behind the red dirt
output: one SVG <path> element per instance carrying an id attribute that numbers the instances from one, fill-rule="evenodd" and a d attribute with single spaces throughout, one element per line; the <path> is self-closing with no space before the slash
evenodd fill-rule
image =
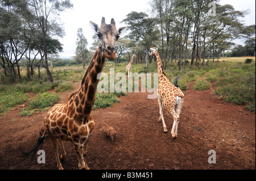
<path id="1" fill-rule="evenodd" d="M 214 92 L 217 95 L 222 95 L 226 102 L 231 102 L 234 104 L 245 105 L 247 109 L 255 112 L 255 57 L 251 64 L 245 64 L 245 57 L 225 57 L 221 58 L 219 62 L 209 62 L 208 66 L 201 66 L 201 69 L 198 69 L 196 65 L 190 67 L 190 64 L 187 64 L 185 67 L 182 66 L 181 70 L 175 62 L 172 65 L 168 64 L 167 70 L 164 70 L 167 78 L 172 83 L 177 75 L 180 75 L 179 86 L 181 90 L 188 90 L 188 84 L 195 82 L 193 89 L 198 91 L 207 90 L 211 87 L 211 83 L 214 83 L 214 86 L 217 87 Z M 106 62 L 106 66 L 103 71 L 109 77 L 110 68 L 114 68 L 115 74 L 124 73 L 126 74 L 125 66 L 128 62 L 122 62 L 121 64 L 115 66 L 114 62 Z M 69 91 L 73 90 L 73 85 L 69 81 L 80 82 L 84 76 L 85 69 L 82 67 L 63 67 L 63 68 L 53 68 L 52 75 L 54 82 L 52 84 L 48 83 L 48 78 L 46 71 L 41 69 L 41 78 L 38 81 L 38 75 L 35 73 L 33 77 L 28 80 L 25 75 L 22 76 L 22 81 L 11 85 L 8 82 L 4 82 L 4 85 L 0 85 L 0 113 L 7 112 L 11 108 L 28 102 L 31 106 L 20 111 L 21 115 L 32 115 L 36 109 L 47 109 L 39 108 L 44 105 L 42 99 L 46 99 L 47 95 L 42 97 L 43 93 L 48 94 L 49 90 L 55 89 L 55 92 Z M 145 64 L 133 64 L 132 73 L 157 73 L 157 64 L 152 61 L 151 64 L 148 64 L 146 69 Z M 153 77 L 153 76 L 152 76 Z M 5 80 L 4 77 L 2 77 Z M 119 80 L 115 80 L 117 83 Z M 147 81 L 147 80 L 146 80 Z M 134 90 L 133 82 L 133 90 Z M 153 85 L 153 79 L 151 79 L 151 86 Z M 128 83 L 127 83 L 127 86 Z M 110 87 L 110 86 L 108 86 Z M 34 92 L 36 95 L 35 100 L 29 102 L 29 92 Z M 126 96 L 127 93 L 117 93 L 112 94 L 96 94 L 96 100 L 94 103 L 95 108 L 106 108 L 113 106 L 114 103 L 118 103 L 120 96 Z M 39 103 L 42 105 L 39 105 Z M 32 108 L 32 105 L 35 107 Z M 46 106 L 47 104 L 45 104 Z M 51 104 L 50 104 L 51 105 Z M 44 106 L 42 106 L 44 107 Z"/>

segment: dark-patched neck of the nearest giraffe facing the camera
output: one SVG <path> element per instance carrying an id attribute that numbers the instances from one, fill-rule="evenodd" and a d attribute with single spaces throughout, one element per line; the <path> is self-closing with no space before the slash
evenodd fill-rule
<path id="1" fill-rule="evenodd" d="M 96 52 L 90 64 L 82 78 L 81 87 L 75 93 L 76 95 L 71 98 L 70 101 L 75 102 L 77 115 L 88 118 L 90 112 L 92 112 L 94 99 L 97 91 L 97 85 L 99 79 L 97 75 L 101 73 L 105 65 L 106 57 L 100 47 L 97 48 Z"/>

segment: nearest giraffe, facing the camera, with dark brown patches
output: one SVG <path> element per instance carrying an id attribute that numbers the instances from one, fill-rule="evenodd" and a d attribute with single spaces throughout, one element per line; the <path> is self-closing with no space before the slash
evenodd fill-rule
<path id="1" fill-rule="evenodd" d="M 93 22 L 90 22 L 90 26 L 97 33 L 100 45 L 82 78 L 81 87 L 70 96 L 68 103 L 56 104 L 44 118 L 44 133 L 48 134 L 52 142 L 59 170 L 63 170 L 60 159 L 64 159 L 66 155 L 62 141 L 72 142 L 79 159 L 79 169 L 89 169 L 86 165 L 86 153 L 89 138 L 94 128 L 94 121 L 90 113 L 93 109 L 99 81 L 97 75 L 101 73 L 106 58 L 114 60 L 117 57 L 115 41 L 125 33 L 127 28 L 123 27 L 117 30 L 114 19 L 111 20 L 110 24 L 106 24 L 105 18 L 102 18 L 100 28 Z M 42 142 L 43 137 L 44 134 L 39 142 Z M 60 159 L 57 151 L 58 141 L 62 151 Z"/>

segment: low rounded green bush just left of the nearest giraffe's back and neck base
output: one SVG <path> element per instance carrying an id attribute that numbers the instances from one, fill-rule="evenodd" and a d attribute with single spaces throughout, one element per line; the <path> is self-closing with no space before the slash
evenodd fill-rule
<path id="1" fill-rule="evenodd" d="M 36 96 L 29 104 L 31 109 L 43 109 L 46 107 L 54 106 L 59 102 L 60 97 L 56 93 L 43 93 Z"/>

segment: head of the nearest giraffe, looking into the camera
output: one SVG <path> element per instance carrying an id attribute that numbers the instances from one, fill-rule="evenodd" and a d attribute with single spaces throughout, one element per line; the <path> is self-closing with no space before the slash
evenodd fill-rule
<path id="1" fill-rule="evenodd" d="M 117 30 L 115 27 L 115 20 L 112 18 L 111 23 L 106 24 L 104 17 L 101 20 L 100 28 L 93 22 L 90 22 L 90 26 L 100 39 L 100 48 L 102 49 L 104 56 L 109 60 L 115 60 L 117 57 L 117 53 L 115 52 L 115 41 L 125 33 L 127 27 L 122 27 Z"/>

